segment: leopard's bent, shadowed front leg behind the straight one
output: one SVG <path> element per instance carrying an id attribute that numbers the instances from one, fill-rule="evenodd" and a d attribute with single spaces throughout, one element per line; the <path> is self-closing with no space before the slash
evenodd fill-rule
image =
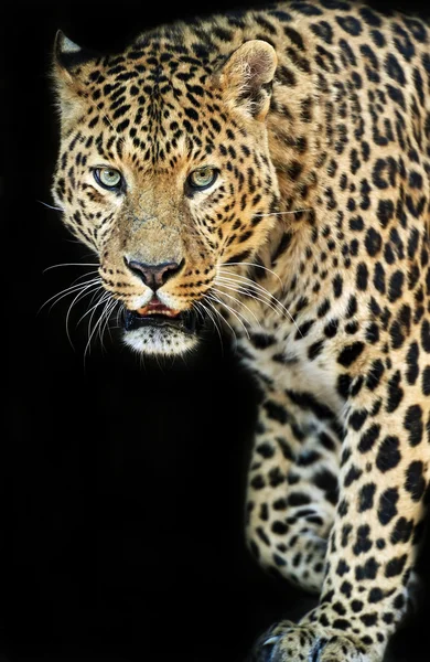
<path id="1" fill-rule="evenodd" d="M 333 413 L 316 402 L 305 405 L 286 394 L 262 399 L 248 481 L 247 540 L 271 574 L 319 592 L 341 444 Z"/>

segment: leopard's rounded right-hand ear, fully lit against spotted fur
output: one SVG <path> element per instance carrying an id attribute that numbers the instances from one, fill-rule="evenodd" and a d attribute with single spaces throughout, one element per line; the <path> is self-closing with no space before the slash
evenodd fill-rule
<path id="1" fill-rule="evenodd" d="M 262 40 L 251 40 L 234 51 L 213 79 L 228 105 L 264 121 L 277 64 L 273 46 Z"/>

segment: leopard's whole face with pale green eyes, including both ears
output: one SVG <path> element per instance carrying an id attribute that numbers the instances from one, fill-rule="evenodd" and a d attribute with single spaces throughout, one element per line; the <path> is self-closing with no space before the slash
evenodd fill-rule
<path id="1" fill-rule="evenodd" d="M 194 51 L 170 35 L 83 62 L 57 39 L 54 200 L 97 253 L 138 352 L 196 344 L 219 267 L 251 259 L 278 204 L 265 124 L 275 50 L 251 41 L 221 62 Z"/>

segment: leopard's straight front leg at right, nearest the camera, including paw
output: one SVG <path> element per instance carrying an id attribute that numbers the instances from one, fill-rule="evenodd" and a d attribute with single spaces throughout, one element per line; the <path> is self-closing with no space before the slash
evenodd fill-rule
<path id="1" fill-rule="evenodd" d="M 255 661 L 380 662 L 405 616 L 429 484 L 430 403 L 399 359 L 384 370 L 369 363 L 351 384 L 320 604 L 267 632 Z"/>

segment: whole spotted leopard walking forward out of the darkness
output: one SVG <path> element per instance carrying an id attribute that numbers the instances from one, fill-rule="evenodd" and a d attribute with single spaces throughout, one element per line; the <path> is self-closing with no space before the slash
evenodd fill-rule
<path id="1" fill-rule="evenodd" d="M 249 659 L 380 662 L 429 494 L 429 21 L 287 0 L 114 53 L 58 32 L 50 72 L 53 200 L 122 342 L 219 333 L 256 384 L 244 540 L 316 606 Z"/>

